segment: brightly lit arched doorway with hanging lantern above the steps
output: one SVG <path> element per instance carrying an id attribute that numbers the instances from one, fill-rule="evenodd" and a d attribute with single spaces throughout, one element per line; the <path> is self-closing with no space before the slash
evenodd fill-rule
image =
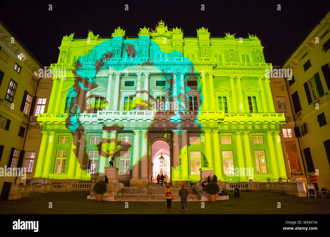
<path id="1" fill-rule="evenodd" d="M 161 163 L 159 158 L 163 154 L 164 161 Z M 168 179 L 171 178 L 171 158 L 170 146 L 163 139 L 155 140 L 151 145 L 151 172 L 150 180 L 154 179 L 156 182 L 157 175 L 163 174 Z"/>

